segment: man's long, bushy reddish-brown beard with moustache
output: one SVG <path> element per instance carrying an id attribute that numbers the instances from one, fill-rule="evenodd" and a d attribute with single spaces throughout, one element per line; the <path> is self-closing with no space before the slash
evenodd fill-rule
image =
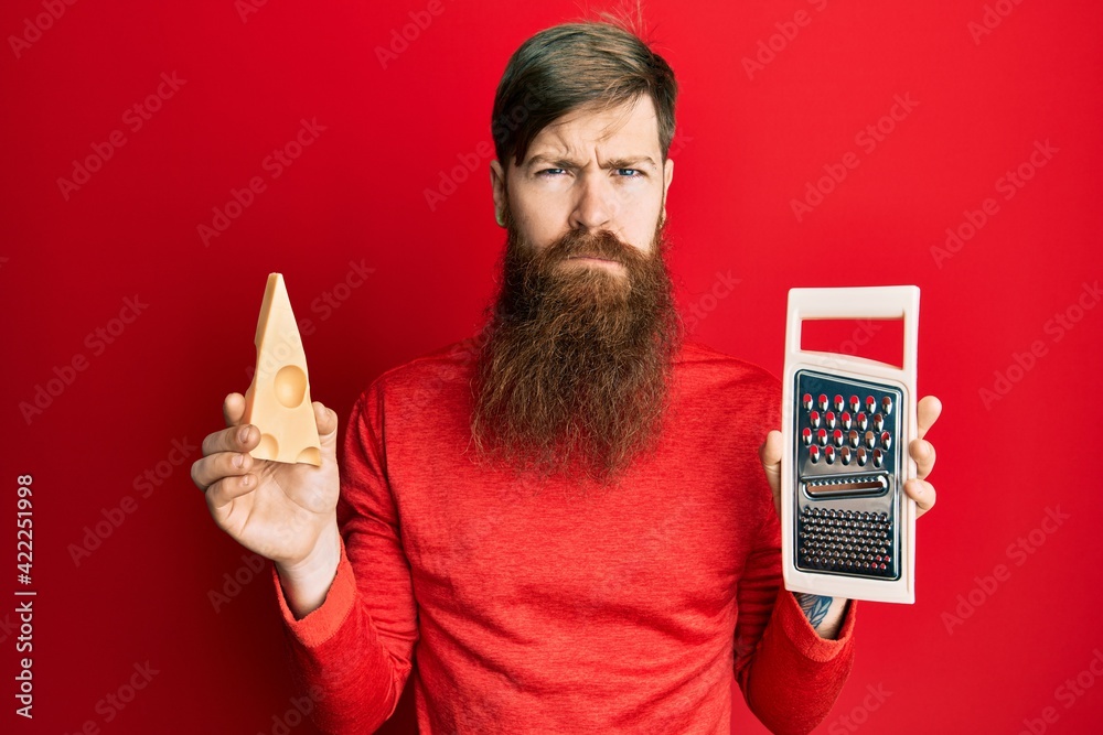
<path id="1" fill-rule="evenodd" d="M 536 250 L 508 213 L 506 225 L 503 281 L 472 379 L 475 447 L 518 472 L 615 482 L 662 433 L 683 338 L 665 224 L 649 252 L 608 230 L 571 230 Z M 565 262 L 575 255 L 624 270 Z"/>

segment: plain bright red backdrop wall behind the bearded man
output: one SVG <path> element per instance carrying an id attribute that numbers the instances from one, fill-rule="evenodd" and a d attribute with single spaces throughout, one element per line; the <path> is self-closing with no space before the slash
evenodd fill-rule
<path id="1" fill-rule="evenodd" d="M 583 4 L 443 0 L 432 15 L 422 0 L 269 2 L 243 18 L 232 0 L 76 2 L 43 15 L 40 34 L 26 22 L 41 1 L 3 4 L 0 512 L 14 518 L 15 477 L 32 473 L 38 597 L 26 723 L 13 714 L 21 585 L 2 521 L 0 728 L 274 731 L 291 690 L 267 570 L 215 612 L 224 574 L 250 574 L 191 484 L 197 450 L 161 464 L 172 473 L 146 497 L 135 479 L 180 458 L 174 440 L 219 428 L 223 396 L 247 388 L 271 271 L 312 321 L 312 397 L 342 420 L 381 371 L 478 328 L 504 244 L 479 153 L 494 89 L 517 45 Z M 1103 504 L 1084 463 L 1099 444 L 1103 309 L 1084 295 L 1078 313 L 1077 300 L 1101 270 L 1103 10 L 1002 0 L 1006 17 L 974 37 L 981 0 L 728 4 L 644 11 L 681 82 L 668 212 L 682 301 L 704 314 L 695 335 L 780 374 L 788 289 L 915 283 L 919 387 L 945 406 L 918 602 L 863 604 L 854 671 L 818 732 L 1097 728 Z M 786 25 L 797 11 L 806 24 Z M 431 22 L 384 66 L 377 48 L 411 12 Z M 759 42 L 777 51 L 749 74 Z M 162 73 L 185 82 L 133 130 L 125 112 Z M 897 95 L 913 109 L 868 151 L 856 136 Z M 265 158 L 302 119 L 324 130 L 272 177 Z M 116 130 L 125 144 L 66 198 L 58 179 Z M 1036 141 L 1057 152 L 1004 198 L 997 180 Z M 857 167 L 797 220 L 792 201 L 848 152 Z M 426 190 L 463 160 L 474 172 L 430 209 Z M 265 191 L 205 247 L 197 226 L 253 176 Z M 998 210 L 940 260 L 946 228 L 986 198 Z M 374 270 L 335 290 L 350 262 Z M 729 273 L 730 293 L 708 296 Z M 329 313 L 326 292 L 346 296 Z M 136 295 L 148 306 L 111 344 L 87 338 L 124 326 L 111 320 Z M 1058 329 L 1057 314 L 1079 321 Z M 1040 356 L 1022 358 L 1031 345 Z M 85 369 L 28 422 L 20 403 L 74 358 Z M 1009 391 L 985 400 L 997 387 Z M 132 512 L 76 565 L 71 544 L 124 502 Z M 1047 508 L 1068 516 L 1052 532 Z M 1020 537 L 1030 554 L 1009 549 Z M 997 564 L 1008 574 L 985 591 L 977 577 Z M 947 623 L 971 593 L 975 610 Z M 146 661 L 148 687 L 97 710 Z M 1060 689 L 1078 674 L 1095 685 Z M 735 711 L 732 732 L 762 732 L 741 700 Z"/>

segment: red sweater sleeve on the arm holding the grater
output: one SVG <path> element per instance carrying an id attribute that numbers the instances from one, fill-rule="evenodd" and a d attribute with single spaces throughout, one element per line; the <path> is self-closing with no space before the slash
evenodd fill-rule
<path id="1" fill-rule="evenodd" d="M 771 507 L 738 590 L 736 681 L 773 733 L 808 733 L 838 699 L 854 663 L 857 603 L 835 640 L 821 638 L 781 577 L 781 523 Z"/>

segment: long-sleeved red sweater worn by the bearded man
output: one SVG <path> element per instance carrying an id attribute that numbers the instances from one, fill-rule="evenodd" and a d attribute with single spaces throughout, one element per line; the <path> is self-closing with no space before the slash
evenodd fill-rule
<path id="1" fill-rule="evenodd" d="M 468 454 L 470 344 L 355 403 L 322 606 L 296 620 L 272 571 L 317 723 L 372 732 L 413 674 L 425 735 L 727 735 L 733 673 L 772 731 L 815 727 L 849 673 L 856 605 L 824 640 L 781 587 L 758 457 L 781 425 L 778 380 L 687 342 L 670 429 L 619 490 L 534 494 Z"/>

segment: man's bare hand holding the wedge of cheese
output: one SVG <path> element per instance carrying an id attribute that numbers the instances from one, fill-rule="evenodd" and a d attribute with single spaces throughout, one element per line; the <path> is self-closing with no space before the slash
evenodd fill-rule
<path id="1" fill-rule="evenodd" d="M 192 482 L 206 494 L 215 523 L 276 562 L 288 604 L 300 617 L 322 603 L 340 561 L 338 415 L 318 401 L 313 409 L 321 466 L 255 460 L 249 451 L 260 443 L 260 431 L 242 424 L 242 393 L 226 397 L 228 428 L 203 440 L 203 457 L 192 465 Z"/>

